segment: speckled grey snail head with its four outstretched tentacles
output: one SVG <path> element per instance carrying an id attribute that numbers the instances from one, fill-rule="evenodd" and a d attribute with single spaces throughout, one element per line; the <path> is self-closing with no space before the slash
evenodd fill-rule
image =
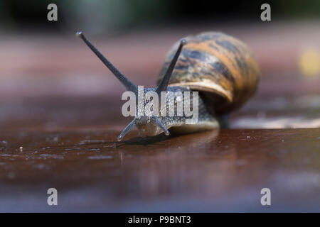
<path id="1" fill-rule="evenodd" d="M 114 67 L 114 65 L 112 65 L 112 63 L 109 60 L 107 60 L 107 58 L 103 56 L 102 53 L 99 50 L 97 50 L 97 48 L 95 48 L 95 46 L 92 45 L 92 43 L 90 43 L 89 40 L 87 40 L 87 38 L 85 38 L 85 35 L 82 32 L 78 32 L 76 33 L 76 35 L 80 37 L 85 42 L 85 44 L 87 44 L 87 46 L 92 50 L 92 52 L 94 52 L 95 55 L 99 57 L 99 59 L 103 62 L 103 64 L 114 74 L 115 77 L 117 77 L 117 79 L 119 79 L 119 81 L 124 85 L 124 87 L 128 91 L 134 92 L 134 94 L 136 95 L 138 94 L 138 87 L 135 84 L 133 84 L 129 79 L 127 79 L 127 77 L 125 77 L 124 74 L 119 72 L 119 70 L 117 70 L 117 68 Z M 169 79 L 171 77 L 172 72 L 174 71 L 174 66 L 176 65 L 176 62 L 181 53 L 183 45 L 186 45 L 186 40 L 184 39 L 181 40 L 180 45 L 178 46 L 178 50 L 176 50 L 176 54 L 174 55 L 174 58 L 171 60 L 170 65 L 166 70 L 166 74 L 164 74 L 164 77 L 159 83 L 159 86 L 154 89 L 154 92 L 156 92 L 156 94 L 158 94 L 159 96 L 161 92 L 166 92 L 168 89 Z M 148 100 L 148 101 L 151 101 L 151 100 Z M 148 101 L 144 101 L 144 105 Z M 138 106 L 136 106 L 136 109 L 138 109 Z M 136 116 L 126 126 L 126 128 L 124 128 L 124 130 L 118 137 L 118 141 L 121 141 L 124 135 L 126 135 L 129 131 L 131 131 L 132 128 L 134 128 L 134 126 L 137 127 L 139 131 L 139 135 L 141 135 L 142 137 L 154 136 L 163 132 L 166 135 L 170 134 L 168 129 L 166 128 L 166 126 L 164 126 L 164 123 L 161 122 L 159 117 L 139 116 L 139 114 L 137 114 L 137 111 L 136 111 Z"/>

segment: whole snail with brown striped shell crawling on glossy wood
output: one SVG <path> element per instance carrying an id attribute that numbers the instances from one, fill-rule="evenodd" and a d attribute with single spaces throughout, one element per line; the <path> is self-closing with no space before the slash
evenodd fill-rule
<path id="1" fill-rule="evenodd" d="M 138 87 L 119 72 L 82 32 L 76 35 L 82 38 L 128 91 L 138 93 Z M 171 95 L 173 92 L 198 92 L 197 121 L 186 123 L 187 117 L 184 115 L 139 116 L 136 111 L 134 120 L 124 128 L 118 140 L 122 140 L 134 126 L 142 137 L 160 133 L 169 135 L 169 128 L 172 132 L 193 133 L 225 126 L 226 114 L 240 108 L 255 93 L 259 76 L 260 70 L 250 49 L 230 35 L 207 32 L 179 40 L 166 55 L 158 86 L 145 88 L 144 92 L 156 92 L 159 95 L 166 92 L 167 100 L 174 99 Z M 142 105 L 150 101 L 144 100 Z M 138 109 L 139 104 L 136 105 Z M 176 105 L 176 102 L 169 102 L 168 110 L 176 109 Z"/>

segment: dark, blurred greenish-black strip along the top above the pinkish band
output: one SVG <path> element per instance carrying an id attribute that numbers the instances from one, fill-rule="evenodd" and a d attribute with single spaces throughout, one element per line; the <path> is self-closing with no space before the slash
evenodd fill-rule
<path id="1" fill-rule="evenodd" d="M 46 20 L 47 6 L 58 5 L 58 21 Z M 119 33 L 156 26 L 204 23 L 260 23 L 260 6 L 271 5 L 272 21 L 319 18 L 319 0 L 1 0 L 2 32 L 60 32 L 81 28 L 90 33 Z M 48 26 L 50 24 L 50 26 Z"/>

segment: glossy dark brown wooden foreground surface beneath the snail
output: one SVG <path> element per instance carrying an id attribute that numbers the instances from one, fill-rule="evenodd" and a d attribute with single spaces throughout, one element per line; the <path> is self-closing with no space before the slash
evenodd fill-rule
<path id="1" fill-rule="evenodd" d="M 1 211 L 320 211 L 320 130 L 1 133 Z M 20 147 L 23 147 L 20 150 Z M 58 206 L 46 191 L 58 189 Z M 270 188 L 272 206 L 260 204 Z"/>

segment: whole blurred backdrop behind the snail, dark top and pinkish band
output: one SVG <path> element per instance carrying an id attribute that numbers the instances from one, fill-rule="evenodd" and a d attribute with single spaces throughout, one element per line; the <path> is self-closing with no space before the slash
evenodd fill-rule
<path id="1" fill-rule="evenodd" d="M 48 21 L 48 4 L 58 21 Z M 271 6 L 262 21 L 260 6 Z M 0 1 L 0 126 L 116 128 L 124 88 L 75 37 L 83 31 L 129 79 L 155 86 L 176 40 L 222 31 L 252 48 L 259 89 L 233 128 L 320 126 L 320 1 Z"/>

